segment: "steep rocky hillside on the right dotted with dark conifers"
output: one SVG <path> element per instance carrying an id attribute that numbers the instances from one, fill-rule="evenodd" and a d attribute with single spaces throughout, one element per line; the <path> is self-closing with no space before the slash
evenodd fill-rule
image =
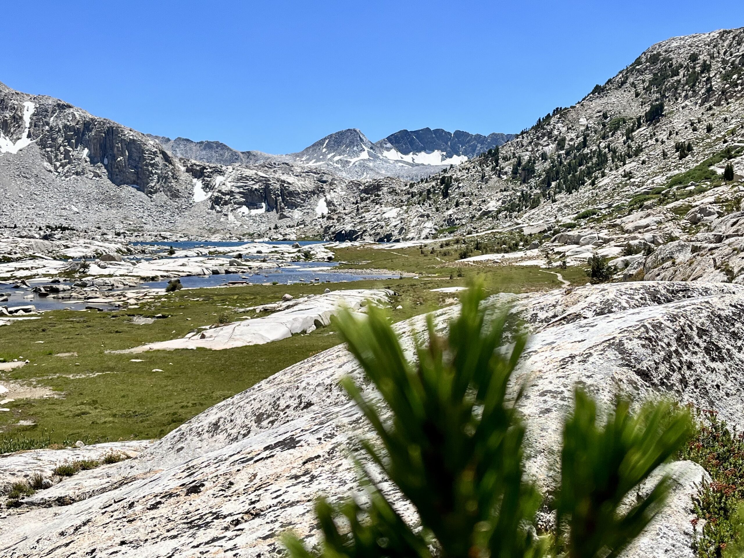
<path id="1" fill-rule="evenodd" d="M 705 188 L 722 182 L 726 164 L 738 179 L 743 40 L 738 29 L 653 45 L 579 103 L 554 109 L 498 151 L 423 182 L 361 196 L 358 211 L 338 219 L 344 228 L 331 224 L 327 232 L 405 240 L 442 228 L 575 226 L 589 214 L 623 217 L 662 192 L 657 205 L 679 202 L 695 189 L 683 190 L 690 182 Z M 398 211 L 391 214 L 391 206 Z"/>

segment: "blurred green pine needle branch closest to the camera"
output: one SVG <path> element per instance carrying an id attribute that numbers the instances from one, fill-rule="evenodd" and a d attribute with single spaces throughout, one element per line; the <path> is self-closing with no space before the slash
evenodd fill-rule
<path id="1" fill-rule="evenodd" d="M 507 390 L 526 339 L 507 327 L 505 311 L 487 320 L 482 298 L 478 286 L 465 292 L 446 339 L 429 317 L 429 344 L 417 345 L 415 364 L 379 308 L 369 307 L 365 320 L 339 315 L 341 338 L 391 415 L 383 420 L 352 379 L 341 380 L 381 442 L 358 443 L 413 504 L 423 528 L 405 523 L 359 460 L 366 503 L 321 498 L 315 511 L 323 546 L 311 553 L 286 536 L 290 557 L 545 556 L 550 540 L 533 527 L 542 498 L 525 475 L 525 426 L 516 410 L 523 391 L 512 397 Z M 689 431 L 689 416 L 670 405 L 647 405 L 634 416 L 618 401 L 603 420 L 577 390 L 563 434 L 552 554 L 617 556 L 658 512 L 671 481 L 663 478 L 647 498 L 636 498 L 635 486 L 680 449 Z"/>

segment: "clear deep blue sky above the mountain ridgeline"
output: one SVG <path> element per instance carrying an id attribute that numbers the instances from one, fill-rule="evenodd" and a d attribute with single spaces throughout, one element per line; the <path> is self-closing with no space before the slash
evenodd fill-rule
<path id="1" fill-rule="evenodd" d="M 654 42 L 744 1 L 125 1 L 3 5 L 0 81 L 158 135 L 298 151 L 359 128 L 519 132 Z M 11 23 L 14 22 L 14 23 Z"/>

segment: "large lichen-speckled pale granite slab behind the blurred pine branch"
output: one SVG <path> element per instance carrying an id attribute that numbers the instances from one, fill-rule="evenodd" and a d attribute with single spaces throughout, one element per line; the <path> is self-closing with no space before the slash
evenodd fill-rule
<path id="1" fill-rule="evenodd" d="M 521 405 L 528 419 L 527 469 L 543 491 L 554 487 L 562 418 L 577 382 L 602 403 L 618 391 L 636 401 L 670 394 L 742 426 L 743 286 L 647 281 L 499 298 L 513 301 L 533 332 L 515 380 L 527 383 Z M 457 311 L 436 312 L 437 328 Z M 424 318 L 398 327 L 421 331 Z M 368 432 L 337 387 L 344 374 L 373 397 L 344 347 L 326 350 L 112 466 L 108 486 L 94 482 L 88 494 L 79 484 L 71 487 L 74 504 L 26 506 L 0 519 L 0 554 L 266 556 L 280 552 L 277 537 L 290 528 L 317 542 L 312 502 L 320 493 L 339 498 L 355 489 L 347 448 Z M 693 557 L 683 524 L 690 516 L 690 479 L 703 473 L 691 469 L 680 473 L 670 507 L 626 556 Z M 65 482 L 54 490 L 61 494 Z M 415 519 L 394 491 L 391 497 Z"/>

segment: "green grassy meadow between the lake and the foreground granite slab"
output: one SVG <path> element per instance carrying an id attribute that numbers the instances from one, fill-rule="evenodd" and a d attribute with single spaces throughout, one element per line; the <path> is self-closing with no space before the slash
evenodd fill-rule
<path id="1" fill-rule="evenodd" d="M 438 246 L 438 245 L 437 245 Z M 454 245 L 453 245 L 454 248 Z M 264 345 L 213 351 L 208 349 L 152 351 L 140 354 L 111 354 L 153 341 L 185 336 L 199 326 L 217 324 L 223 314 L 237 319 L 242 307 L 278 301 L 288 292 L 318 294 L 331 289 L 389 288 L 397 292 L 391 310 L 395 321 L 437 310 L 452 293 L 430 292 L 440 286 L 460 286 L 468 278 L 482 275 L 490 292 L 526 292 L 560 286 L 555 275 L 523 266 L 443 267 L 432 254 L 423 256 L 408 249 L 349 248 L 337 259 L 374 260 L 365 267 L 414 270 L 420 279 L 365 280 L 350 283 L 253 285 L 220 289 L 183 289 L 158 301 L 141 304 L 137 310 L 118 312 L 46 312 L 39 320 L 19 321 L 0 330 L 0 357 L 19 357 L 30 363 L 4 373 L 0 379 L 16 379 L 47 386 L 62 397 L 16 400 L 10 412 L 0 415 L 0 452 L 34 447 L 70 445 L 111 440 L 162 437 L 205 408 L 231 397 L 289 365 L 333 347 L 339 338 L 333 326 L 306 336 Z M 454 250 L 453 250 L 454 251 Z M 341 252 L 343 252 L 341 254 Z M 451 262 L 457 256 L 449 257 Z M 441 258 L 445 259 L 445 258 Z M 353 266 L 351 263 L 348 266 Z M 454 276 L 449 279 L 450 274 Z M 581 269 L 561 273 L 572 282 L 585 282 Z M 395 274 L 397 276 L 397 274 Z M 196 299 L 196 300 L 193 300 Z M 168 318 L 153 324 L 135 325 L 134 315 Z M 250 315 L 255 316 L 254 312 Z M 44 341 L 43 344 L 36 341 Z M 77 356 L 56 356 L 77 353 Z M 143 359 L 144 362 L 130 362 Z M 159 369 L 161 371 L 153 372 Z M 19 426 L 33 420 L 36 426 Z"/>

